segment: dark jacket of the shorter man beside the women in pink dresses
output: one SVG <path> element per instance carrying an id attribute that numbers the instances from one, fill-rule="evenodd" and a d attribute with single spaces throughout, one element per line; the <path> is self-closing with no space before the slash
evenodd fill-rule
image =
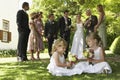
<path id="1" fill-rule="evenodd" d="M 50 22 L 49 20 L 45 23 L 45 37 L 50 38 L 54 37 L 57 38 L 58 34 L 58 23 L 56 21 Z"/>

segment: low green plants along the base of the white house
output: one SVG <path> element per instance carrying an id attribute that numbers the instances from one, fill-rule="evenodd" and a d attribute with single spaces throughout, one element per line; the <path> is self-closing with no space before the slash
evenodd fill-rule
<path id="1" fill-rule="evenodd" d="M 0 50 L 0 57 L 13 57 L 16 56 L 17 50 Z"/>

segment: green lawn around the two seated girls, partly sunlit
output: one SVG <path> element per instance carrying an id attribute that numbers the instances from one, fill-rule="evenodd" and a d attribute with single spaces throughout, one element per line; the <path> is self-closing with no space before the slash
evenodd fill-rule
<path id="1" fill-rule="evenodd" d="M 0 63 L 0 80 L 119 80 L 120 55 L 107 55 L 112 74 L 81 74 L 74 76 L 52 76 L 46 67 L 49 59 L 28 62 Z"/>

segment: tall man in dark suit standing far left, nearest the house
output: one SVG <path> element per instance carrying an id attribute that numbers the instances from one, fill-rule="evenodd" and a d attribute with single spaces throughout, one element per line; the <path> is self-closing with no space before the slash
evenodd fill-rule
<path id="1" fill-rule="evenodd" d="M 24 2 L 22 4 L 22 10 L 17 12 L 17 26 L 18 26 L 18 46 L 17 46 L 17 60 L 18 61 L 27 61 L 27 43 L 28 43 L 28 36 L 30 33 L 29 29 L 29 18 L 28 14 L 26 13 L 29 10 L 29 4 Z"/>

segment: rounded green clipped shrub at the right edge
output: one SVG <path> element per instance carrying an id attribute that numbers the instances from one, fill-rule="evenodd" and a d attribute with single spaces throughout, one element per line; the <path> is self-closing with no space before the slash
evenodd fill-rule
<path id="1" fill-rule="evenodd" d="M 113 41 L 112 45 L 110 46 L 110 50 L 115 53 L 120 55 L 120 36 L 115 38 Z"/>

